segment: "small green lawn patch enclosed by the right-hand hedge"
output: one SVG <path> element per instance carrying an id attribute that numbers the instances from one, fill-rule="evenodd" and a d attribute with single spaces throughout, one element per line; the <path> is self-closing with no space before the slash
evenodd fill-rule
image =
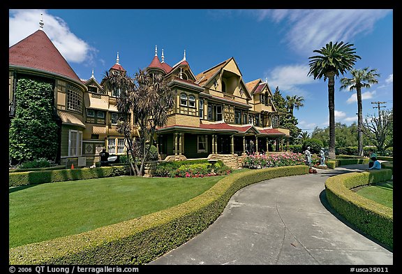
<path id="1" fill-rule="evenodd" d="M 362 187 L 356 192 L 357 194 L 364 196 L 367 199 L 381 203 L 384 206 L 393 208 L 393 193 L 394 182 L 382 182 L 378 185 L 371 185 L 368 187 Z"/>

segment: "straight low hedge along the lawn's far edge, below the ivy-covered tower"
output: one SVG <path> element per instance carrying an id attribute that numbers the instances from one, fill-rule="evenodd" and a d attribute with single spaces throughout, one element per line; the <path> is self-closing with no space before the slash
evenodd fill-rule
<path id="1" fill-rule="evenodd" d="M 37 185 L 45 182 L 94 179 L 128 175 L 127 166 L 103 166 L 100 168 L 59 169 L 54 171 L 26 171 L 8 174 L 8 186 Z"/>

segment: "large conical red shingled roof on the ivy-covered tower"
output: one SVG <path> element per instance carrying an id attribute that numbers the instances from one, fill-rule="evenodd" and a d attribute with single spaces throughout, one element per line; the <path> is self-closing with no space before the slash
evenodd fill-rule
<path id="1" fill-rule="evenodd" d="M 66 59 L 42 30 L 35 31 L 34 34 L 12 45 L 8 50 L 8 63 L 58 73 L 80 81 Z"/>

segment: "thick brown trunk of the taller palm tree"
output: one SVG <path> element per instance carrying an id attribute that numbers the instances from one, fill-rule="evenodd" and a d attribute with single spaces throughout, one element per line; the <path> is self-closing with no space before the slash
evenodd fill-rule
<path id="1" fill-rule="evenodd" d="M 335 159 L 335 73 L 327 73 L 329 109 L 329 159 Z"/>

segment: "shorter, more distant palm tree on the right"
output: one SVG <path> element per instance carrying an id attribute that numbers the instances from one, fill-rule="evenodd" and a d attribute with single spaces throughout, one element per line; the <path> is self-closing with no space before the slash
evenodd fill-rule
<path id="1" fill-rule="evenodd" d="M 368 71 L 368 67 L 364 69 L 352 69 L 350 71 L 352 78 L 342 78 L 341 88 L 352 91 L 356 89 L 357 95 L 357 139 L 358 139 L 358 154 L 363 156 L 363 106 L 362 106 L 362 87 L 370 88 L 370 84 L 378 84 L 378 79 L 380 74 L 377 73 L 377 69 L 371 69 Z"/>

